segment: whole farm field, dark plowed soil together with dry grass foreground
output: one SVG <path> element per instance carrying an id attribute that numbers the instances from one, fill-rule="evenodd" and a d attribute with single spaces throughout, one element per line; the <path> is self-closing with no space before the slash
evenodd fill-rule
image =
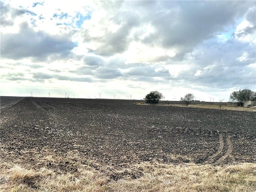
<path id="1" fill-rule="evenodd" d="M 1 97 L 0 190 L 256 190 L 256 112 L 12 99 Z"/>

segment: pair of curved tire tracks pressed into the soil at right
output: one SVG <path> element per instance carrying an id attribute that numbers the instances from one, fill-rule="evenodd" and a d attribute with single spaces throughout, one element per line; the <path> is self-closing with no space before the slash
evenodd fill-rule
<path id="1" fill-rule="evenodd" d="M 220 164 L 222 163 L 233 151 L 231 136 L 226 136 L 224 133 L 219 134 L 219 148 L 216 153 L 208 157 L 204 164 Z M 225 152 L 226 145 L 228 149 Z"/>

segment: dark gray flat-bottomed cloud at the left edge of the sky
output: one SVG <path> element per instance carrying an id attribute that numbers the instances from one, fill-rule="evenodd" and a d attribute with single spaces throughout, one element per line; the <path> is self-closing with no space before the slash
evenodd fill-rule
<path id="1" fill-rule="evenodd" d="M 43 58 L 51 54 L 70 54 L 75 44 L 60 36 L 50 36 L 42 31 L 35 32 L 26 23 L 20 25 L 18 34 L 1 34 L 2 58 Z"/>

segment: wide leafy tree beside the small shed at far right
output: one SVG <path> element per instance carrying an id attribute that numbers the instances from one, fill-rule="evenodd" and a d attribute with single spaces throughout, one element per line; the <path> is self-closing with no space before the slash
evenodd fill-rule
<path id="1" fill-rule="evenodd" d="M 256 97 L 256 92 L 250 89 L 240 89 L 238 91 L 233 91 L 229 99 L 232 102 L 237 102 L 239 106 L 243 106 L 243 102 L 251 101 L 254 97 Z"/>

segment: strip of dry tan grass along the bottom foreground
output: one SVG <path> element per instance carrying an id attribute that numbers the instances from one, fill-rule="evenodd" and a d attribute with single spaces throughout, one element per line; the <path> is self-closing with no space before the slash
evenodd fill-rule
<path id="1" fill-rule="evenodd" d="M 110 179 L 106 170 L 81 165 L 76 173 L 57 174 L 41 168 L 28 170 L 17 165 L 0 164 L 0 191 L 10 192 L 252 192 L 256 191 L 256 164 L 213 166 L 200 164 L 160 164 L 143 162 L 130 166 L 142 172 L 131 178 L 129 168 L 116 170 L 126 176 Z M 112 170 L 113 171 L 113 170 Z"/>

